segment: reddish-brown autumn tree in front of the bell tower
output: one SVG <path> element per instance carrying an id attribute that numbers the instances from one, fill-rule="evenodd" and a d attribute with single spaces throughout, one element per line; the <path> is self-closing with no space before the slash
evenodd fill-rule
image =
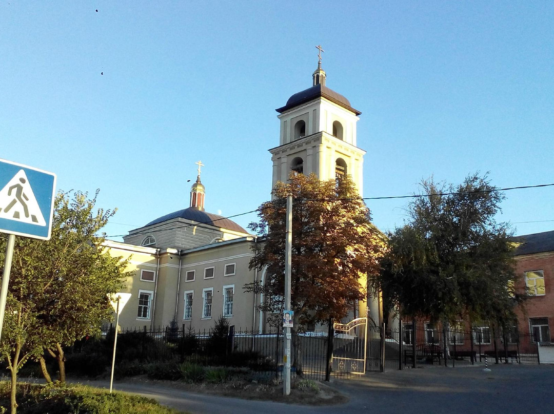
<path id="1" fill-rule="evenodd" d="M 261 236 L 250 269 L 267 268 L 265 283 L 245 290 L 263 293 L 261 310 L 283 310 L 286 196 L 293 195 L 291 306 L 294 365 L 301 374 L 298 332 L 308 323 L 340 320 L 366 299 L 366 277 L 378 272 L 381 234 L 349 177 L 320 181 L 315 174 L 291 174 L 278 183 L 273 200 L 258 209 L 249 228 Z M 275 325 L 280 324 L 282 313 Z"/>

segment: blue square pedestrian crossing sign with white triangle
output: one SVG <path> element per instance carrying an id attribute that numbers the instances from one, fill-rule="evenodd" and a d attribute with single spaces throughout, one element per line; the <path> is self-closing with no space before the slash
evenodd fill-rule
<path id="1" fill-rule="evenodd" d="M 56 174 L 0 159 L 0 232 L 50 239 Z"/>

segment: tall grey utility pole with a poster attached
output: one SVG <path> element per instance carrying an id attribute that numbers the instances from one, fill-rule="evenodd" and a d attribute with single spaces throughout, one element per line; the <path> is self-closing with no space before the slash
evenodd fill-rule
<path id="1" fill-rule="evenodd" d="M 285 238 L 285 310 L 290 306 L 290 268 L 292 264 L 293 246 L 293 196 L 286 196 L 286 238 Z M 293 319 L 294 320 L 294 319 Z M 283 394 L 290 394 L 290 327 L 283 328 Z"/>

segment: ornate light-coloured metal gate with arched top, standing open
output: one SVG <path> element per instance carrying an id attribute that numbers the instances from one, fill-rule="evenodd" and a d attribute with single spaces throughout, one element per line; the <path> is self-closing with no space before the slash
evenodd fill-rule
<path id="1" fill-rule="evenodd" d="M 366 372 L 367 318 L 334 323 L 332 370 L 337 374 Z"/>

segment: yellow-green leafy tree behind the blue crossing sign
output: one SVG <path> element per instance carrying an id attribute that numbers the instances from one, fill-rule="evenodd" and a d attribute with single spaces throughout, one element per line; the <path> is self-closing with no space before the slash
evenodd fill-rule
<path id="1" fill-rule="evenodd" d="M 93 199 L 86 193 L 70 195 L 55 198 L 50 240 L 16 237 L 2 335 L 13 384 L 29 358 L 41 362 L 50 380 L 45 350 L 58 360 L 64 381 L 63 346 L 98 333 L 102 320 L 112 317 L 107 294 L 124 286 L 126 262 L 111 257 L 102 246 L 104 235 L 98 235 L 115 211 L 94 211 L 98 192 Z M 6 239 L 1 239 L 0 254 L 5 249 Z"/>

